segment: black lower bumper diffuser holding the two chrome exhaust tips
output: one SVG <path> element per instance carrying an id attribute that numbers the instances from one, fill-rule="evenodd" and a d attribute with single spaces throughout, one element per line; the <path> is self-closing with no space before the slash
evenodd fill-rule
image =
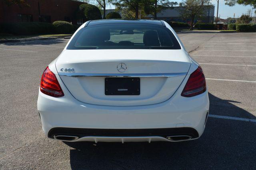
<path id="1" fill-rule="evenodd" d="M 199 137 L 196 129 L 189 127 L 164 129 L 82 129 L 82 128 L 53 128 L 48 137 L 64 141 L 92 142 L 151 142 L 151 141 L 184 141 Z M 61 138 L 62 137 L 62 138 Z M 64 137 L 64 138 L 63 138 Z M 65 137 L 69 137 L 65 139 Z M 71 138 L 70 138 L 71 137 Z M 178 139 L 177 139 L 178 138 Z"/>

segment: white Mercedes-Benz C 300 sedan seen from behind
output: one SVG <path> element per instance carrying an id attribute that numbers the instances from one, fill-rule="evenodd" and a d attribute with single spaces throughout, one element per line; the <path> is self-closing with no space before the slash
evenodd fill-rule
<path id="1" fill-rule="evenodd" d="M 198 139 L 209 98 L 202 68 L 165 21 L 87 21 L 44 70 L 45 135 L 61 141 Z"/>

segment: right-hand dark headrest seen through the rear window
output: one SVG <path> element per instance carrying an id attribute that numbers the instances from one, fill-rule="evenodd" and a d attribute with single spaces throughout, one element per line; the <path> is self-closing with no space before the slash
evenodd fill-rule
<path id="1" fill-rule="evenodd" d="M 143 43 L 145 46 L 160 46 L 158 33 L 156 31 L 146 31 L 143 36 Z"/>

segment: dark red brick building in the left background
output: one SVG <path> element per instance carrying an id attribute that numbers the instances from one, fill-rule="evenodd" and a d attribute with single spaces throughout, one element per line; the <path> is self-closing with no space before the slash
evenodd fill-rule
<path id="1" fill-rule="evenodd" d="M 76 12 L 80 4 L 76 0 L 26 0 L 29 7 L 7 6 L 0 0 L 0 22 L 36 21 L 49 22 L 68 21 L 72 24 L 82 24 Z"/>

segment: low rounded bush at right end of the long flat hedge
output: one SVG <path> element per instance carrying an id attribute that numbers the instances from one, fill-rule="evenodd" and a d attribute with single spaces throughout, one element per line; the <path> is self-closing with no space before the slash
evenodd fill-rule
<path id="1" fill-rule="evenodd" d="M 54 21 L 52 25 L 55 33 L 68 34 L 74 30 L 73 25 L 66 21 Z"/>

